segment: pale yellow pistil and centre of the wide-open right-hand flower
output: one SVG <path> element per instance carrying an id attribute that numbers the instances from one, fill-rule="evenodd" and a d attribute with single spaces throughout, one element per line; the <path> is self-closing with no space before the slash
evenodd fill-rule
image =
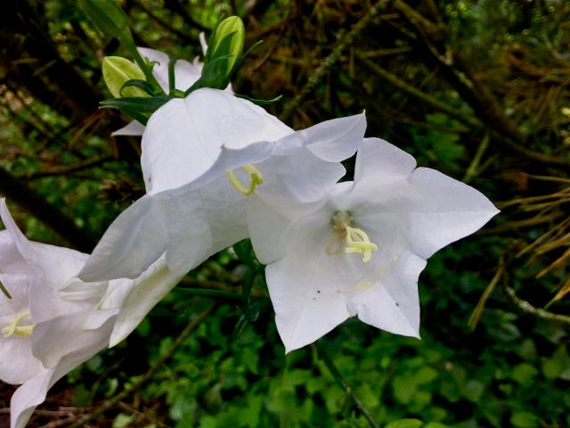
<path id="1" fill-rule="evenodd" d="M 346 239 L 345 254 L 362 254 L 362 261 L 367 263 L 372 257 L 372 251 L 378 250 L 378 245 L 371 243 L 370 238 L 362 229 L 353 227 L 353 216 L 346 211 L 337 211 L 332 216 L 332 226 L 337 231 L 327 246 L 327 252 L 333 254 L 332 247 L 338 242 L 338 237 L 343 235 Z"/>

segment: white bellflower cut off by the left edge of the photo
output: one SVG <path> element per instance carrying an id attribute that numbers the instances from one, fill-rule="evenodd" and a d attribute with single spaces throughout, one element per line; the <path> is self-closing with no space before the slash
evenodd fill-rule
<path id="1" fill-rule="evenodd" d="M 28 241 L 4 199 L 0 217 L 0 281 L 12 296 L 0 295 L 0 379 L 23 383 L 11 400 L 11 427 L 20 428 L 53 383 L 107 346 L 116 310 L 94 312 L 99 298 L 61 300 L 87 255 Z"/>

